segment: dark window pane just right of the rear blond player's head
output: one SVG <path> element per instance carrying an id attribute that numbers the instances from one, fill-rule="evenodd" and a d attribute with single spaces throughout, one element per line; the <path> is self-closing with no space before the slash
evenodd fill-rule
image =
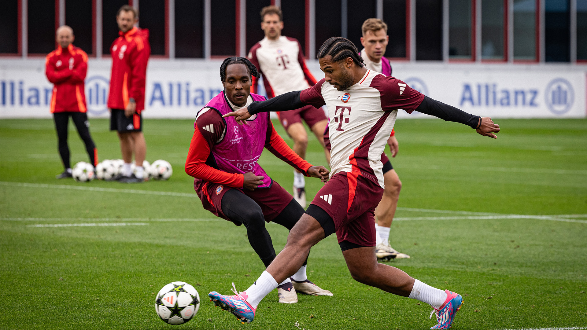
<path id="1" fill-rule="evenodd" d="M 409 0 L 384 0 L 383 22 L 387 24 L 389 43 L 384 56 L 387 58 L 407 58 L 406 31 L 407 1 Z"/>

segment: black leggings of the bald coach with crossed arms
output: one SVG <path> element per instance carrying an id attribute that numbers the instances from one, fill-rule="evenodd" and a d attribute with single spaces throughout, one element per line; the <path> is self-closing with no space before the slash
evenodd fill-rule
<path id="1" fill-rule="evenodd" d="M 53 119 L 55 120 L 55 130 L 57 130 L 58 138 L 58 149 L 63 166 L 66 169 L 71 167 L 69 163 L 69 146 L 68 146 L 68 126 L 69 116 L 72 116 L 73 123 L 77 129 L 79 137 L 82 138 L 83 143 L 86 144 L 86 151 L 90 156 L 90 163 L 93 166 L 97 165 L 97 150 L 96 145 L 90 136 L 90 123 L 87 121 L 87 115 L 85 112 L 56 112 L 53 113 Z"/>

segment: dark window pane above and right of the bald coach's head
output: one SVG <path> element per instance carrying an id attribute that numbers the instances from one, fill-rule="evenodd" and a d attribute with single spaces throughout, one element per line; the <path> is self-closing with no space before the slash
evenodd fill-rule
<path id="1" fill-rule="evenodd" d="M 88 54 L 94 53 L 93 17 L 91 1 L 65 1 L 65 24 L 73 29 L 73 44 Z"/>

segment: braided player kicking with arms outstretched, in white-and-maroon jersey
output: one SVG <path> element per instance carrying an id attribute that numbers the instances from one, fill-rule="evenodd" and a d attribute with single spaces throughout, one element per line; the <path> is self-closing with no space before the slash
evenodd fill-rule
<path id="1" fill-rule="evenodd" d="M 493 132 L 500 128 L 489 117 L 470 115 L 420 94 L 402 80 L 366 69 L 348 39 L 328 39 L 318 50 L 318 59 L 325 79 L 315 86 L 252 103 L 226 116 L 245 122 L 261 112 L 326 105 L 332 142 L 330 180 L 289 232 L 284 250 L 251 287 L 231 296 L 215 291 L 208 295 L 215 305 L 237 315 L 239 321 L 251 322 L 261 299 L 298 270 L 314 244 L 336 233 L 356 281 L 426 302 L 438 319 L 431 329 L 448 329 L 463 302 L 460 295 L 424 284 L 402 270 L 378 263 L 375 257 L 374 213 L 384 184 L 381 154 L 397 109 L 467 124 L 493 138 L 497 137 Z"/>

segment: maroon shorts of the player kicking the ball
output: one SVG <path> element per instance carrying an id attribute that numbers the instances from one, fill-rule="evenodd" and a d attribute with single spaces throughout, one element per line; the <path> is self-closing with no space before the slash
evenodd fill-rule
<path id="1" fill-rule="evenodd" d="M 375 246 L 375 208 L 383 188 L 349 172 L 336 173 L 318 191 L 311 204 L 322 208 L 334 221 L 338 243 L 348 241 Z"/>

